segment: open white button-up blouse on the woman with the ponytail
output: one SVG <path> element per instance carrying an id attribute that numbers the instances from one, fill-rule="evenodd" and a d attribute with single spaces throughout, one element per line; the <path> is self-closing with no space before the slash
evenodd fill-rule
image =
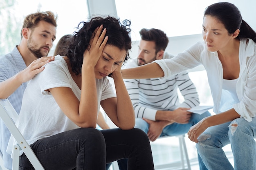
<path id="1" fill-rule="evenodd" d="M 153 61 L 164 71 L 164 77 L 177 74 L 183 70 L 204 65 L 211 88 L 215 113 L 220 113 L 222 98 L 223 69 L 217 52 L 209 52 L 202 41 L 191 46 L 188 50 L 177 54 L 173 59 Z M 240 102 L 230 108 L 240 114 L 248 122 L 256 116 L 256 43 L 252 39 L 241 39 L 239 46 L 240 73 L 236 83 L 236 93 Z"/>

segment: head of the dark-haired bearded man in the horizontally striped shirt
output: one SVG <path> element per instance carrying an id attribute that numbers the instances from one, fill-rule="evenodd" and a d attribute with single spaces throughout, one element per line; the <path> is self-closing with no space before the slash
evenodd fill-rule
<path id="1" fill-rule="evenodd" d="M 151 28 L 143 28 L 139 31 L 141 40 L 139 42 L 138 65 L 151 63 L 157 59 L 162 59 L 169 39 L 164 31 Z"/>

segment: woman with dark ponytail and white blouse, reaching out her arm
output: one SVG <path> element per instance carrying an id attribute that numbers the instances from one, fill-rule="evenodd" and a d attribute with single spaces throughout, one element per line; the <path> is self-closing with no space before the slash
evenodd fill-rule
<path id="1" fill-rule="evenodd" d="M 218 2 L 204 12 L 202 35 L 203 42 L 173 59 L 122 70 L 123 78 L 167 78 L 204 65 L 217 114 L 188 132 L 202 158 L 200 169 L 256 169 L 256 33 L 234 4 Z M 235 167 L 222 150 L 227 144 Z"/>

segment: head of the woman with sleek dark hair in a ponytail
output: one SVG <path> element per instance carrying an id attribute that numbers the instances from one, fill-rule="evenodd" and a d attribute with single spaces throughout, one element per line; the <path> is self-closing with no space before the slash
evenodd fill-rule
<path id="1" fill-rule="evenodd" d="M 215 39 L 217 36 L 220 41 L 211 44 L 211 39 Z M 220 37 L 222 37 L 222 39 L 220 39 Z M 229 41 L 229 39 L 239 40 L 241 38 L 250 38 L 256 42 L 256 33 L 242 19 L 239 9 L 234 4 L 229 2 L 217 2 L 211 4 L 204 11 L 203 38 L 204 40 L 208 38 L 208 40 L 205 41 L 209 44 L 209 49 L 219 44 L 218 48 L 210 49 L 210 51 L 215 51 L 219 50 L 221 45 L 225 46 L 225 42 Z"/>

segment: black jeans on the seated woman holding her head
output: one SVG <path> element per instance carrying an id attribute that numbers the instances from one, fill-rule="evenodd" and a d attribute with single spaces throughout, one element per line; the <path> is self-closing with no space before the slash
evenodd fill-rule
<path id="1" fill-rule="evenodd" d="M 46 170 L 105 170 L 106 163 L 123 158 L 128 170 L 154 169 L 148 136 L 140 129 L 79 128 L 39 139 L 31 148 Z M 20 169 L 34 169 L 24 153 Z"/>

